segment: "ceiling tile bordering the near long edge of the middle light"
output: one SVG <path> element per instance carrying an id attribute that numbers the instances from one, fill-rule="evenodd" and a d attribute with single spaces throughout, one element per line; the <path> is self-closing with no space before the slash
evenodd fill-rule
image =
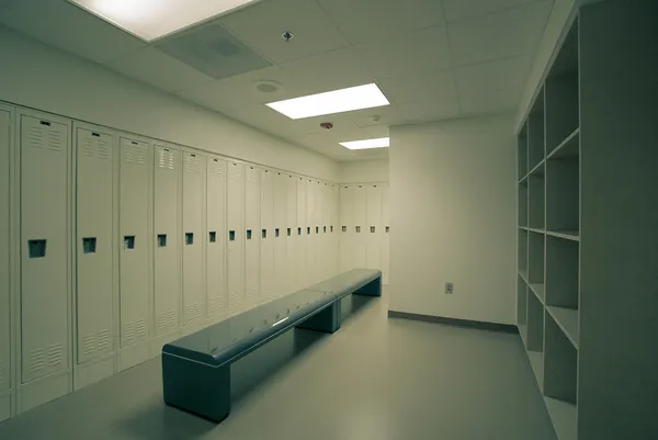
<path id="1" fill-rule="evenodd" d="M 320 93 L 366 84 L 374 81 L 359 55 L 351 48 L 340 48 L 280 66 L 296 83 Z"/>

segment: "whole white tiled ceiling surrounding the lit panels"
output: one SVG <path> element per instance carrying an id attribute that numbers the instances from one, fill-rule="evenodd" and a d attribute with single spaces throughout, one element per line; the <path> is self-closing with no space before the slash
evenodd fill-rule
<path id="1" fill-rule="evenodd" d="M 388 136 L 390 125 L 515 109 L 552 7 L 553 0 L 262 0 L 152 45 L 65 0 L 0 0 L 0 22 L 349 161 L 388 151 L 350 151 L 339 142 Z M 288 43 L 285 31 L 295 35 Z M 202 32 L 230 42 L 213 65 L 196 50 Z M 279 90 L 260 92 L 259 81 L 275 81 Z M 368 82 L 392 105 L 297 121 L 263 105 Z M 324 131 L 321 122 L 334 128 Z"/>

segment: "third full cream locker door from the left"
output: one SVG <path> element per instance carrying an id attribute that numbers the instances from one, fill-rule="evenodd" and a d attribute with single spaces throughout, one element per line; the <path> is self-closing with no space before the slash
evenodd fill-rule
<path id="1" fill-rule="evenodd" d="M 121 347 L 148 339 L 149 145 L 121 138 L 120 320 Z"/>

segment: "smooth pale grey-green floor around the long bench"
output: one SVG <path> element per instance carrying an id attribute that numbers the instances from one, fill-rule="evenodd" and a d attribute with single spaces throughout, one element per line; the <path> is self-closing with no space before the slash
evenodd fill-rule
<path id="1" fill-rule="evenodd" d="M 154 359 L 0 424 L 0 439 L 556 440 L 518 335 L 353 305 L 334 335 L 294 330 L 268 345 L 284 354 L 239 361 L 219 425 L 164 406 Z"/>

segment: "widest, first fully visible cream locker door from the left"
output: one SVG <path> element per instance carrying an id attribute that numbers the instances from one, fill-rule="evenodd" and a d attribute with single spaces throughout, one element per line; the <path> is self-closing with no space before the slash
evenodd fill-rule
<path id="1" fill-rule="evenodd" d="M 21 116 L 23 383 L 68 368 L 69 127 Z"/>

